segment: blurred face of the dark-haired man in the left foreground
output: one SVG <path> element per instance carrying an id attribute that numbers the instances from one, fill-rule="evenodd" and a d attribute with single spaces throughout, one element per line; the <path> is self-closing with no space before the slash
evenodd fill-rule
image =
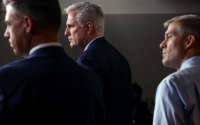
<path id="1" fill-rule="evenodd" d="M 24 56 L 27 49 L 24 20 L 12 4 L 6 5 L 5 24 L 4 37 L 8 39 L 10 47 L 16 55 Z"/>

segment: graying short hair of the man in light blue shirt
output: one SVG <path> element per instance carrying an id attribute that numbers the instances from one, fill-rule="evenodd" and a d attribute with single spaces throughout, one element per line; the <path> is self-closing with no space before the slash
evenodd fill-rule
<path id="1" fill-rule="evenodd" d="M 167 20 L 163 25 L 167 28 L 173 22 L 180 24 L 180 35 L 182 37 L 194 35 L 197 41 L 200 42 L 200 16 L 194 14 L 176 16 Z"/>

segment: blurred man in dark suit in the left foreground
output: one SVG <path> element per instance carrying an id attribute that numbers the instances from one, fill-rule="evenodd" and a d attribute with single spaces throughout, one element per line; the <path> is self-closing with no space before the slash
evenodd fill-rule
<path id="1" fill-rule="evenodd" d="M 100 83 L 58 42 L 58 1 L 4 0 L 3 5 L 4 36 L 24 59 L 0 68 L 0 120 L 101 123 Z"/>

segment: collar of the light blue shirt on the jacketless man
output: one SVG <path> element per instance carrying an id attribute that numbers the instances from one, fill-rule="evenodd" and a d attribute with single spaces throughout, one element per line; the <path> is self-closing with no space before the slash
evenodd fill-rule
<path id="1" fill-rule="evenodd" d="M 194 65 L 200 65 L 200 56 L 193 56 L 191 58 L 189 58 L 188 60 L 186 60 L 182 65 L 180 70 L 185 69 L 185 68 L 189 68 L 191 66 Z"/>

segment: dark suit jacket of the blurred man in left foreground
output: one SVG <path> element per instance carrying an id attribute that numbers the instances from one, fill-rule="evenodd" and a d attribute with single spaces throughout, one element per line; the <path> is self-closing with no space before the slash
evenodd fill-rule
<path id="1" fill-rule="evenodd" d="M 0 68 L 0 119 L 95 125 L 103 116 L 94 77 L 63 48 L 41 48 Z"/>

